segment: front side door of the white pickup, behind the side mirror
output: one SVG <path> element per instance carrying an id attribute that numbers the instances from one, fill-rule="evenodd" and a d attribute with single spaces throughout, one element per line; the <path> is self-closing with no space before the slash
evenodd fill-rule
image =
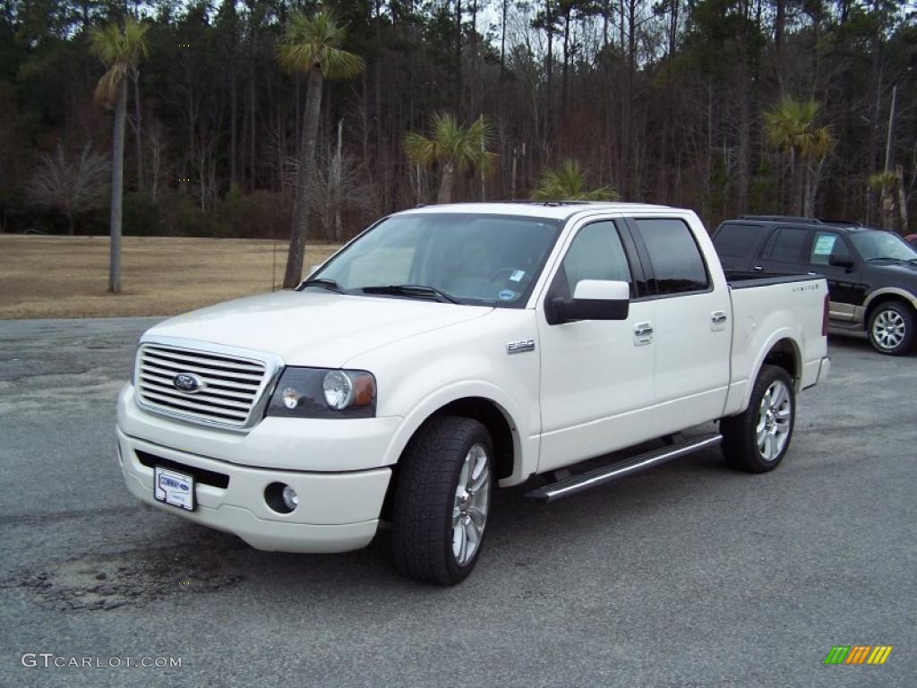
<path id="1" fill-rule="evenodd" d="M 544 302 L 569 298 L 580 280 L 631 284 L 626 320 L 549 325 Z M 655 302 L 624 223 L 585 220 L 537 309 L 541 347 L 539 472 L 621 449 L 655 433 Z"/>

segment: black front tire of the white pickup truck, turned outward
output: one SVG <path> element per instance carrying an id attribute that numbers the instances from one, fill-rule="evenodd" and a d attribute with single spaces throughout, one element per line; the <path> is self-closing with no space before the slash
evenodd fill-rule
<path id="1" fill-rule="evenodd" d="M 455 585 L 474 569 L 486 534 L 492 457 L 491 435 L 477 420 L 436 416 L 417 431 L 399 461 L 392 509 L 392 548 L 399 571 L 424 583 Z M 468 461 L 474 465 L 464 473 Z M 468 483 L 466 475 L 473 478 L 481 461 L 478 489 L 460 497 L 459 480 Z M 458 538 L 465 538 L 468 549 L 461 549 Z"/>

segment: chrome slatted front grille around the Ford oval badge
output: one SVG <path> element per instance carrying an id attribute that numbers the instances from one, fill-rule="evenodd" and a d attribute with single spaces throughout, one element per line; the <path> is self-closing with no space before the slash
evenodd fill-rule
<path id="1" fill-rule="evenodd" d="M 257 359 L 146 342 L 138 351 L 138 401 L 151 411 L 204 425 L 246 427 L 262 406 L 270 373 Z M 178 383 L 189 379 L 195 389 L 179 389 Z"/>

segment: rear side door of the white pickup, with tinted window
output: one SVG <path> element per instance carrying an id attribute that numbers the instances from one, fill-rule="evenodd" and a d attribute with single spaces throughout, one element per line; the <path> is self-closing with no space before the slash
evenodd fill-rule
<path id="1" fill-rule="evenodd" d="M 660 216 L 629 222 L 656 305 L 654 421 L 656 434 L 665 435 L 723 412 L 732 306 L 725 283 L 714 285 L 713 271 L 686 220 Z"/>

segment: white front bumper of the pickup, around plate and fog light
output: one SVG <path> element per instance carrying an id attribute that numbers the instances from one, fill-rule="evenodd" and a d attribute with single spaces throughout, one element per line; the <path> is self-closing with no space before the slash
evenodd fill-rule
<path id="1" fill-rule="evenodd" d="M 194 523 L 234 533 L 256 549 L 342 552 L 370 543 L 379 526 L 392 470 L 301 472 L 252 468 L 216 461 L 128 436 L 117 428 L 119 461 L 127 489 L 145 504 Z M 138 455 L 138 451 L 141 454 Z M 226 476 L 226 487 L 196 481 L 197 508 L 184 511 L 153 499 L 150 456 Z M 155 462 L 155 461 L 153 461 Z M 181 470 L 181 468 L 176 468 Z M 299 506 L 290 514 L 271 509 L 264 490 L 271 483 L 293 486 Z"/>

